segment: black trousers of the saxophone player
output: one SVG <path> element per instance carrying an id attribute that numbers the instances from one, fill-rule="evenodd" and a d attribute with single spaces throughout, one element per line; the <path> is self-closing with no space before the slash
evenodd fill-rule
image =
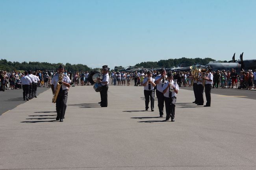
<path id="1" fill-rule="evenodd" d="M 68 91 L 63 90 L 59 91 L 57 100 L 56 100 L 56 112 L 59 119 L 63 119 L 65 116 L 65 111 L 67 108 L 67 100 L 68 100 Z"/>

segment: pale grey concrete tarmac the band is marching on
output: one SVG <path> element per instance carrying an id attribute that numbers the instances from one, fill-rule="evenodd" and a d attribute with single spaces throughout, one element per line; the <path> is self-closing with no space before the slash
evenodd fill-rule
<path id="1" fill-rule="evenodd" d="M 255 100 L 193 99 L 180 89 L 175 122 L 165 122 L 157 101 L 144 111 L 143 87 L 109 86 L 101 108 L 92 86 L 76 86 L 59 122 L 49 89 L 0 116 L 0 169 L 255 170 Z"/>

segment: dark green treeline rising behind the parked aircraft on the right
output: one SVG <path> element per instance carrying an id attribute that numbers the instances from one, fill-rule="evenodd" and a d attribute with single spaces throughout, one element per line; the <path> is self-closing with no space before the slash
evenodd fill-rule
<path id="1" fill-rule="evenodd" d="M 159 60 L 156 62 L 147 61 L 147 62 L 141 62 L 136 64 L 135 66 L 138 67 L 144 67 L 144 68 L 172 68 L 177 67 L 179 64 L 183 64 L 183 66 L 192 66 L 194 64 L 200 63 L 202 65 L 208 64 L 210 61 L 215 61 L 212 58 L 175 58 L 175 59 L 168 59 L 168 60 Z M 227 62 L 227 61 L 220 61 L 220 62 Z"/>

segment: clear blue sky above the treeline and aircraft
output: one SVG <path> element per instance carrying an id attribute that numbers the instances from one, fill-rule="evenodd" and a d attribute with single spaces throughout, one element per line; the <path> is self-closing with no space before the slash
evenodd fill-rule
<path id="1" fill-rule="evenodd" d="M 0 0 L 0 58 L 135 65 L 256 58 L 256 0 Z"/>

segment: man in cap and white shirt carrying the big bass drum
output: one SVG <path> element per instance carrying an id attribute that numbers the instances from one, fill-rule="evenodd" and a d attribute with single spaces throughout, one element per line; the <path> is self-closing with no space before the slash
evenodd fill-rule
<path id="1" fill-rule="evenodd" d="M 101 107 L 108 107 L 108 84 L 109 84 L 109 75 L 108 75 L 108 66 L 102 66 L 102 79 L 98 77 L 98 82 L 102 86 L 100 91 L 100 105 Z"/>

